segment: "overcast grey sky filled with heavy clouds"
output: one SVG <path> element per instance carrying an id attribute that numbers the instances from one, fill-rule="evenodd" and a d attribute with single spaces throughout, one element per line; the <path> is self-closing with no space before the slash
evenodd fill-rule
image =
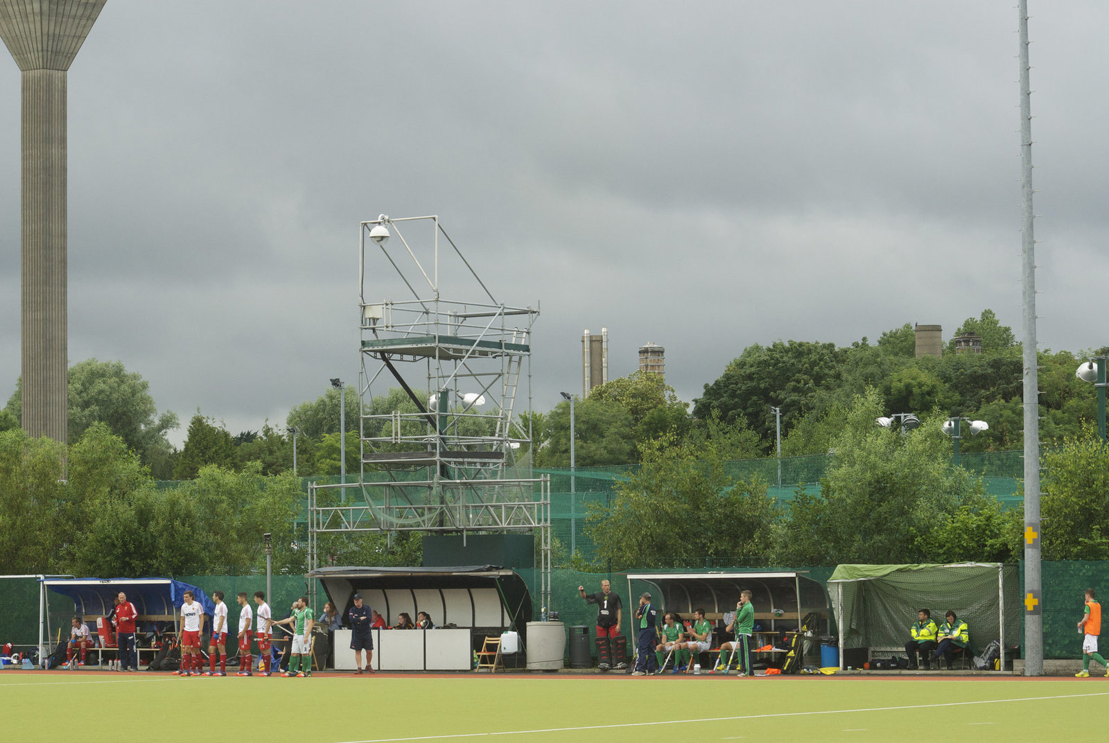
<path id="1" fill-rule="evenodd" d="M 1038 334 L 1077 353 L 1109 343 L 1109 4 L 1029 4 Z M 541 304 L 539 410 L 581 391 L 584 328 L 610 378 L 664 346 L 685 400 L 755 343 L 986 307 L 1019 335 L 1014 6 L 109 0 L 69 73 L 70 363 L 142 374 L 179 444 L 197 408 L 284 424 L 357 379 L 380 213 Z M 0 51 L 0 404 L 19 96 Z"/>

